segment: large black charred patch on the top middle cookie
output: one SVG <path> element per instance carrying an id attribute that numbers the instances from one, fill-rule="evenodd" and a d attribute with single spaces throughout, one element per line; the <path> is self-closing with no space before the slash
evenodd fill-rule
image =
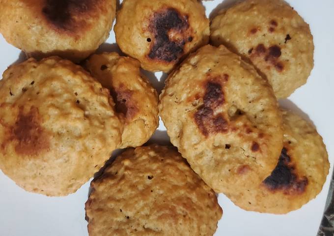
<path id="1" fill-rule="evenodd" d="M 165 62 L 178 60 L 184 52 L 186 41 L 193 41 L 193 37 L 187 35 L 188 28 L 188 16 L 181 15 L 175 8 L 154 13 L 149 26 L 149 31 L 154 35 L 154 41 L 148 57 Z M 170 33 L 181 37 L 171 39 Z"/>

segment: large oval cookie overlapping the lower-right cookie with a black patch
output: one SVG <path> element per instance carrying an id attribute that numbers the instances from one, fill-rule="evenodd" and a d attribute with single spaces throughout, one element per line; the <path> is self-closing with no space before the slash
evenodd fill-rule
<path id="1" fill-rule="evenodd" d="M 223 46 L 201 47 L 169 75 L 159 111 L 170 141 L 216 192 L 258 185 L 277 164 L 283 134 L 273 90 Z"/>

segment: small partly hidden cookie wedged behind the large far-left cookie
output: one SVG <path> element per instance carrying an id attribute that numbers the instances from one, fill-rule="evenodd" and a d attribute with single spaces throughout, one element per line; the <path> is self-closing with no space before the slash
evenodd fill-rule
<path id="1" fill-rule="evenodd" d="M 157 91 L 140 73 L 140 63 L 116 52 L 94 54 L 86 68 L 111 91 L 116 112 L 125 123 L 119 148 L 141 146 L 159 124 Z"/>

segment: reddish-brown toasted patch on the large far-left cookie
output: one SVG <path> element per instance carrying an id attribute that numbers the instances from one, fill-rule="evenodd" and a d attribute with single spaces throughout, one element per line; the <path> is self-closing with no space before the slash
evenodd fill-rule
<path id="1" fill-rule="evenodd" d="M 31 107 L 25 114 L 23 107 L 20 107 L 19 114 L 12 127 L 12 141 L 16 141 L 15 151 L 21 155 L 37 155 L 42 150 L 49 148 L 49 137 L 41 126 L 38 109 Z"/>

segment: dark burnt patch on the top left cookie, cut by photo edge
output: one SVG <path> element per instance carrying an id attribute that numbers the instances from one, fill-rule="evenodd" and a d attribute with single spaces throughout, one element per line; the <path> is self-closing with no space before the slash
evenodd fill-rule
<path id="1" fill-rule="evenodd" d="M 50 24 L 73 31 L 85 24 L 84 19 L 78 21 L 78 16 L 92 11 L 96 0 L 45 0 L 44 3 L 42 13 Z"/>

